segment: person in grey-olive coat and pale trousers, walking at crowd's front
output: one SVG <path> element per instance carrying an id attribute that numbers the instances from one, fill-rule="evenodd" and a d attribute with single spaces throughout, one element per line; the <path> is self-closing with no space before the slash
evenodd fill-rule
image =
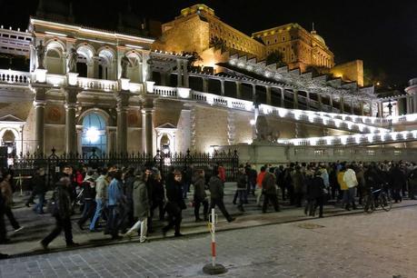
<path id="1" fill-rule="evenodd" d="M 134 188 L 133 188 L 133 201 L 134 201 L 134 219 L 136 223 L 129 229 L 126 236 L 132 237 L 134 232 L 138 232 L 140 229 L 139 242 L 145 243 L 147 233 L 148 217 L 151 214 L 151 205 L 149 204 L 148 190 L 146 188 L 146 182 L 150 178 L 150 174 L 141 174 L 140 170 L 136 170 L 134 173 Z"/>

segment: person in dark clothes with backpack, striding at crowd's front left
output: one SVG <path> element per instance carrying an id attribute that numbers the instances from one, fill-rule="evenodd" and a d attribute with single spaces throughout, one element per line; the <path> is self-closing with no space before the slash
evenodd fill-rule
<path id="1" fill-rule="evenodd" d="M 71 181 L 67 178 L 61 178 L 56 183 L 56 188 L 53 194 L 53 200 L 51 200 L 51 213 L 55 217 L 55 229 L 46 235 L 41 241 L 42 247 L 47 250 L 48 244 L 64 230 L 66 247 L 78 246 L 78 243 L 73 241 L 73 232 L 71 224 L 71 196 L 68 192 L 68 188 L 71 186 Z"/>

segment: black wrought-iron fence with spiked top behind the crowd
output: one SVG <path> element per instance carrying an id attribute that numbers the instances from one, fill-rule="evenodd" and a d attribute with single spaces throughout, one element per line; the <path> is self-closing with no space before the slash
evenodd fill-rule
<path id="1" fill-rule="evenodd" d="M 9 157 L 10 160 L 10 157 Z M 70 165 L 74 169 L 87 167 L 96 169 L 98 167 L 117 166 L 122 167 L 157 167 L 163 174 L 168 174 L 169 169 L 174 167 L 184 171 L 186 167 L 193 169 L 204 169 L 207 174 L 212 174 L 214 166 L 222 164 L 226 172 L 226 180 L 234 181 L 236 171 L 239 165 L 239 156 L 236 151 L 228 153 L 214 152 L 213 154 L 192 154 L 189 150 L 179 154 L 164 154 L 157 151 L 156 155 L 151 154 L 104 154 L 97 155 L 94 153 L 86 154 L 55 154 L 52 149 L 50 155 L 26 154 L 13 158 L 13 165 L 10 165 L 14 172 L 17 184 L 24 186 L 25 180 L 30 179 L 37 168 L 44 168 L 48 186 L 55 184 L 65 167 Z"/>

